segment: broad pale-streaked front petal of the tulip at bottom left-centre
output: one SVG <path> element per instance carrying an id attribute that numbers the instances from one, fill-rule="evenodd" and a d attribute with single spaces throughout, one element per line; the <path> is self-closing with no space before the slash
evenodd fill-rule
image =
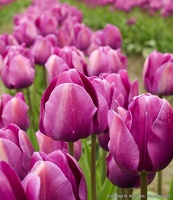
<path id="1" fill-rule="evenodd" d="M 71 184 L 54 163 L 38 161 L 31 169 L 31 173 L 40 177 L 40 200 L 75 200 Z"/>

